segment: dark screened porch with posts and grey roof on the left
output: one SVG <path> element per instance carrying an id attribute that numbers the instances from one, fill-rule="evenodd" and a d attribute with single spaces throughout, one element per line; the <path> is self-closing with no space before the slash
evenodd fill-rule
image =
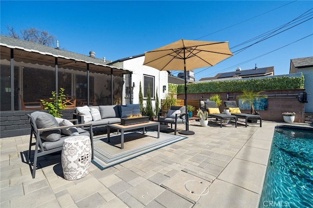
<path id="1" fill-rule="evenodd" d="M 60 87 L 80 104 L 95 98 L 95 104 L 109 105 L 127 96 L 123 87 L 131 71 L 89 54 L 0 36 L 0 111 L 21 110 L 20 95 L 24 103 L 40 102 Z"/>

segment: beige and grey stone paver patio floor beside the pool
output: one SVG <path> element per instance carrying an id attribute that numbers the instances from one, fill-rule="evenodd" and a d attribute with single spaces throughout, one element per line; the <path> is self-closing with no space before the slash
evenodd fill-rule
<path id="1" fill-rule="evenodd" d="M 0 207 L 257 207 L 278 124 L 220 128 L 190 122 L 195 134 L 187 139 L 104 170 L 91 164 L 87 176 L 73 181 L 63 178 L 60 155 L 39 158 L 48 160 L 32 179 L 21 154 L 29 135 L 3 138 Z"/>

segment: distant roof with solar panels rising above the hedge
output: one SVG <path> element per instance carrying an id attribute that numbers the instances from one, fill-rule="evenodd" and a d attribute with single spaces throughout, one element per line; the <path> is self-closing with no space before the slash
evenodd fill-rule
<path id="1" fill-rule="evenodd" d="M 210 82 L 210 81 L 225 81 L 233 79 L 243 79 L 243 78 L 259 78 L 274 75 L 274 66 L 241 70 L 240 67 L 236 71 L 219 73 L 214 77 L 201 78 L 199 81 Z"/>

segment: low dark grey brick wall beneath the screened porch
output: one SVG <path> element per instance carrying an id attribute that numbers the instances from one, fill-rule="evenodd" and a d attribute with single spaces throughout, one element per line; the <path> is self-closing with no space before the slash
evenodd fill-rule
<path id="1" fill-rule="evenodd" d="M 35 111 L 35 110 L 34 110 Z M 27 114 L 34 111 L 1 111 L 0 112 L 0 138 L 14 137 L 30 134 L 30 124 Z M 40 110 L 48 112 L 48 110 Z M 63 118 L 72 119 L 74 109 L 63 112 Z"/>

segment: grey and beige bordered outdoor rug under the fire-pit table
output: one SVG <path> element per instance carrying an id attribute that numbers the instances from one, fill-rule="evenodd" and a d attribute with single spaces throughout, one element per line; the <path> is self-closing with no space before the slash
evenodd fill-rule
<path id="1" fill-rule="evenodd" d="M 163 146 L 186 139 L 179 135 L 160 132 L 160 138 L 156 131 L 147 129 L 146 134 L 140 131 L 124 133 L 124 148 L 121 149 L 121 135 L 111 134 L 110 143 L 108 138 L 97 138 L 93 140 L 94 159 L 91 161 L 101 170 L 125 162 L 139 155 L 151 152 Z"/>

